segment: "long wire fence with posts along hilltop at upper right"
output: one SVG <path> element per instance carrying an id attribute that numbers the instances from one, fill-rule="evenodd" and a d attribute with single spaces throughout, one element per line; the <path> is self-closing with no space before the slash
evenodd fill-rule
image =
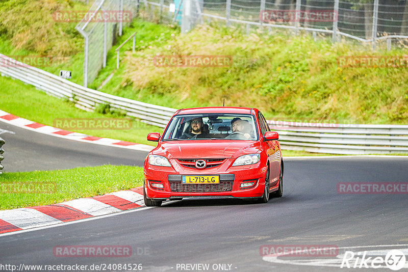
<path id="1" fill-rule="evenodd" d="M 392 39 L 408 38 L 408 0 L 179 0 L 182 10 L 188 3 L 190 13 L 199 15 L 195 23 L 216 20 L 225 25 L 246 25 L 249 32 L 253 26 L 283 28 L 324 33 L 333 40 L 341 37 L 361 42 L 371 42 L 375 49 L 380 40 L 387 40 L 388 48 Z M 150 17 L 156 8 L 170 11 L 172 1 L 145 1 Z M 174 5 L 174 4 L 173 4 Z M 202 9 L 196 9 L 200 6 Z M 189 11 L 187 11 L 189 12 Z M 174 13 L 158 13 L 160 20 L 183 16 Z M 174 21 L 174 20 L 173 20 Z M 192 26 L 194 23 L 192 24 Z M 183 26 L 182 26 L 183 29 Z"/>

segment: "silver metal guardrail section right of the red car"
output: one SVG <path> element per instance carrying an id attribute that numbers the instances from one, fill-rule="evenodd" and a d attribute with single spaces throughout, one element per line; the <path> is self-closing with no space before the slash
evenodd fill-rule
<path id="1" fill-rule="evenodd" d="M 268 123 L 288 150 L 354 155 L 408 153 L 408 125 Z"/>

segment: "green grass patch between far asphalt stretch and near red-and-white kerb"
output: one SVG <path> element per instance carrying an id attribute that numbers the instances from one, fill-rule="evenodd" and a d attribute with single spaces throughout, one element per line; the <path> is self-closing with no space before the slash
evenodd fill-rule
<path id="1" fill-rule="evenodd" d="M 143 168 L 131 166 L 4 173 L 0 175 L 0 209 L 49 205 L 141 185 Z"/>

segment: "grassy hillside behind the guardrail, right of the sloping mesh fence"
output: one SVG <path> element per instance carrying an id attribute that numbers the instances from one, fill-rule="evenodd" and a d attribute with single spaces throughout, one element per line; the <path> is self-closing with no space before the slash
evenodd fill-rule
<path id="1" fill-rule="evenodd" d="M 351 42 L 314 42 L 310 35 L 252 33 L 201 26 L 168 43 L 128 54 L 124 73 L 102 90 L 175 108 L 256 106 L 269 118 L 355 123 L 408 123 L 408 71 L 341 68 L 340 56 L 372 52 Z M 230 67 L 156 67 L 157 55 L 227 55 Z"/>

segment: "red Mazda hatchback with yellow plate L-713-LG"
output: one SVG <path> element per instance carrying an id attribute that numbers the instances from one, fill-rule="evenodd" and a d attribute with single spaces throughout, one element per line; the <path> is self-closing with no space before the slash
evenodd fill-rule
<path id="1" fill-rule="evenodd" d="M 284 162 L 277 132 L 256 108 L 177 111 L 144 161 L 144 203 L 166 199 L 282 197 Z"/>

